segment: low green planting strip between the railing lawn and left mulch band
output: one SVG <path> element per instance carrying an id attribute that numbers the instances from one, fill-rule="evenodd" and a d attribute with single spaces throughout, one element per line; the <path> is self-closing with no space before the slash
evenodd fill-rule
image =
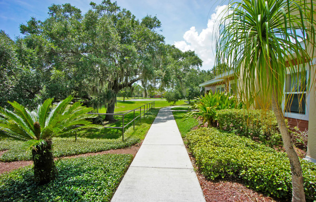
<path id="1" fill-rule="evenodd" d="M 112 149 L 129 147 L 140 141 L 140 138 L 129 138 L 125 142 L 121 139 L 88 139 L 78 138 L 53 138 L 54 157 L 70 156 L 88 152 L 101 152 Z M 24 161 L 31 160 L 31 151 L 25 151 L 21 145 L 23 142 L 4 139 L 0 141 L 0 150 L 8 149 L 0 156 L 0 161 Z"/>

